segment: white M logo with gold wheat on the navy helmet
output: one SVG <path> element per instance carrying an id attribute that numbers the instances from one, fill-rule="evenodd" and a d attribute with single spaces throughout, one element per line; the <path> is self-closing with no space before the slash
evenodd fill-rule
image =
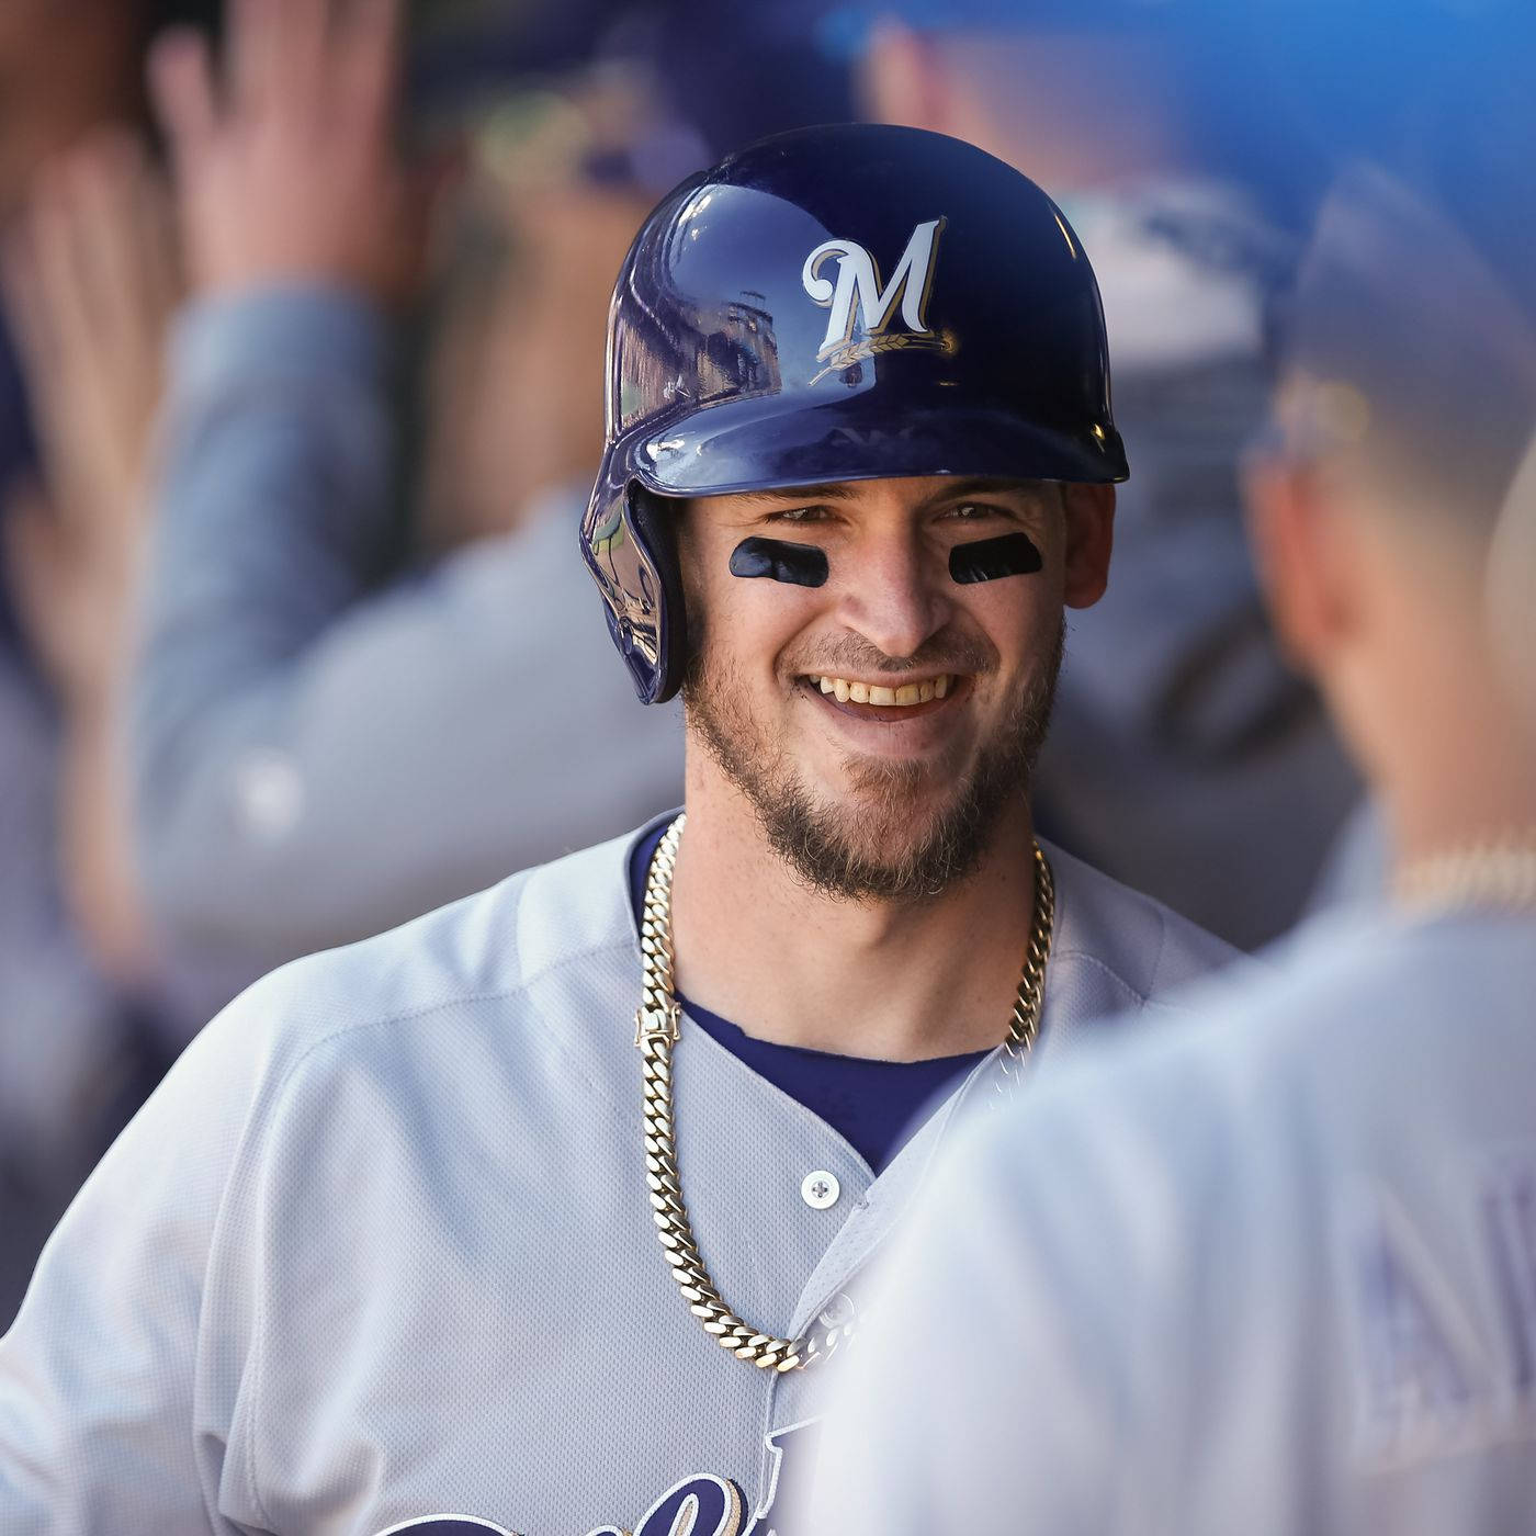
<path id="1" fill-rule="evenodd" d="M 828 240 L 805 258 L 800 272 L 805 292 L 817 304 L 826 304 L 833 310 L 826 321 L 826 338 L 816 353 L 826 364 L 817 378 L 860 358 L 899 347 L 954 350 L 954 338 L 946 332 L 931 330 L 926 318 L 943 227 L 942 218 L 919 224 L 885 286 L 874 257 L 851 240 Z M 836 280 L 823 272 L 831 260 L 837 261 Z M 897 319 L 905 330 L 894 329 Z"/>

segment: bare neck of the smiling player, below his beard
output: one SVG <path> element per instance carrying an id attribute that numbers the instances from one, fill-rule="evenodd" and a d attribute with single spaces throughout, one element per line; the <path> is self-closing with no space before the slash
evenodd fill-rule
<path id="1" fill-rule="evenodd" d="M 687 805 L 673 945 L 676 985 L 691 1001 L 759 1040 L 886 1061 L 1003 1040 L 1034 912 L 1023 796 L 975 874 L 920 903 L 811 891 L 691 743 Z"/>

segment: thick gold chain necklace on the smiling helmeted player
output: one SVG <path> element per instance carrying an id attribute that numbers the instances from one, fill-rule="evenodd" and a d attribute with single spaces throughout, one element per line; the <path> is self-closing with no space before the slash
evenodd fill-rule
<path id="1" fill-rule="evenodd" d="M 651 857 L 645 877 L 645 905 L 641 914 L 641 1006 L 634 1014 L 634 1043 L 642 1061 L 642 1112 L 645 1135 L 645 1183 L 651 1195 L 653 1220 L 662 1250 L 688 1310 L 703 1332 L 737 1359 L 762 1370 L 803 1370 L 825 1359 L 851 1333 L 846 1322 L 814 1326 L 799 1339 L 760 1333 L 743 1322 L 720 1299 L 699 1256 L 699 1246 L 688 1220 L 677 1174 L 677 1143 L 673 1135 L 671 1048 L 680 1034 L 682 1009 L 673 992 L 671 882 L 677 865 L 677 843 L 685 816 L 679 816 Z M 1009 1092 L 1018 1081 L 1029 1048 L 1040 1032 L 1040 997 L 1044 989 L 1046 960 L 1051 954 L 1051 928 L 1055 915 L 1055 883 L 1051 865 L 1035 843 L 1035 915 L 1029 931 L 1023 974 L 1008 1038 L 998 1058 L 998 1089 Z"/>

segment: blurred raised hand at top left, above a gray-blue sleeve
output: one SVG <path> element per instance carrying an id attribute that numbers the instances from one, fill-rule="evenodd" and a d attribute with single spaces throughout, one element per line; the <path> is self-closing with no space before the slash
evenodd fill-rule
<path id="1" fill-rule="evenodd" d="M 167 32 L 151 94 L 198 292 L 295 280 L 393 300 L 416 280 L 425 186 L 393 141 L 398 0 L 232 0 L 224 69 Z"/>

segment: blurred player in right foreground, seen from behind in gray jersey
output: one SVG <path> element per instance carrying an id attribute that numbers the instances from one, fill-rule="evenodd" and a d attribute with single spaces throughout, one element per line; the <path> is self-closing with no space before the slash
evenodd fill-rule
<path id="1" fill-rule="evenodd" d="M 1252 488 L 1393 902 L 935 1180 L 813 1530 L 1536 1530 L 1536 733 L 1485 602 L 1533 505 L 1536 220 L 1524 155 L 1444 163 L 1338 187 Z"/>

